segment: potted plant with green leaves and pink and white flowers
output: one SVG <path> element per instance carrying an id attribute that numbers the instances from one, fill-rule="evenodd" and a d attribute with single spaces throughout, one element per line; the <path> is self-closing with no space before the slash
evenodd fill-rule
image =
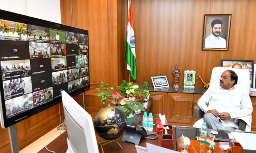
<path id="1" fill-rule="evenodd" d="M 118 88 L 120 93 L 113 93 L 111 90 L 114 90 L 114 87 L 106 88 L 106 84 L 104 82 L 101 83 L 101 87 L 96 88 L 98 91 L 97 96 L 101 98 L 100 101 L 102 101 L 103 104 L 113 104 L 120 108 L 128 117 L 127 120 L 132 116 L 132 123 L 129 123 L 128 121 L 128 124 L 132 125 L 134 122 L 134 111 L 144 111 L 142 103 L 136 100 L 136 98 L 139 97 L 137 94 L 139 86 L 135 83 L 127 83 L 126 81 L 123 81 L 121 85 L 122 89 Z"/>

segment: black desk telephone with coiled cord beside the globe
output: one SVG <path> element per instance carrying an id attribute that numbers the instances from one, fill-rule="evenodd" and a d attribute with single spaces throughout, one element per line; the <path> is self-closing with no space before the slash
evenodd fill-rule
<path id="1" fill-rule="evenodd" d="M 148 135 L 155 135 L 156 137 L 154 138 L 149 138 L 147 137 Z M 124 135 L 122 137 L 122 142 L 132 142 L 135 145 L 139 145 L 139 141 L 142 138 L 149 138 L 150 140 L 154 140 L 158 138 L 158 135 L 156 133 L 149 133 L 147 134 L 146 130 L 142 126 L 126 126 L 126 129 L 124 131 Z"/>

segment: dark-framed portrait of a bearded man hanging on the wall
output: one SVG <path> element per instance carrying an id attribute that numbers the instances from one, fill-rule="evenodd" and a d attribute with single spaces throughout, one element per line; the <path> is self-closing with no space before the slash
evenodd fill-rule
<path id="1" fill-rule="evenodd" d="M 230 25 L 231 14 L 204 15 L 202 50 L 228 51 Z"/>

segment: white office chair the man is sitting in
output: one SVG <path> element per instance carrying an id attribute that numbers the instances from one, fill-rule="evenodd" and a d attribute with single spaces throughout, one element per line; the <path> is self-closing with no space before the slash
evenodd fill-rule
<path id="1" fill-rule="evenodd" d="M 210 80 L 210 87 L 211 85 L 215 83 L 220 82 L 220 76 L 225 70 L 233 70 L 235 73 L 238 75 L 238 81 L 237 84 L 240 86 L 245 87 L 248 89 L 248 94 L 249 94 L 249 88 L 250 88 L 250 81 L 249 81 L 249 71 L 248 70 L 243 70 L 243 69 L 236 69 L 236 68 L 226 68 L 226 67 L 214 67 L 212 72 L 211 72 L 211 80 Z M 196 118 L 201 118 L 199 119 L 193 127 L 201 127 L 203 123 L 203 115 L 205 112 L 203 112 L 198 106 L 195 107 L 194 109 L 194 117 Z M 251 123 L 252 123 L 252 115 L 249 117 L 242 117 L 239 119 L 236 119 L 235 122 L 238 122 L 239 129 L 242 131 L 250 131 L 251 129 Z"/>

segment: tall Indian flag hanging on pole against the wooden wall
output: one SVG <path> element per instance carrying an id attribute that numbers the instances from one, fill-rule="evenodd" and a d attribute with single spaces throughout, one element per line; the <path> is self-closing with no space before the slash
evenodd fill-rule
<path id="1" fill-rule="evenodd" d="M 134 25 L 132 17 L 132 3 L 129 1 L 129 19 L 127 25 L 126 42 L 125 42 L 125 61 L 127 63 L 127 70 L 130 71 L 132 78 L 135 80 L 136 75 L 136 55 L 135 55 L 135 37 L 134 37 Z"/>

